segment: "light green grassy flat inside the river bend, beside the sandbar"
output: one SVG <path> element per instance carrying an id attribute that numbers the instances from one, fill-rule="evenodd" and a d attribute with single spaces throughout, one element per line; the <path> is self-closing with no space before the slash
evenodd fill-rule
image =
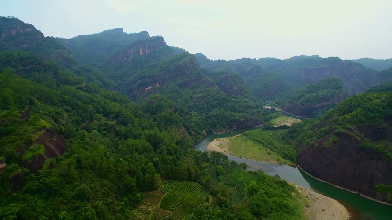
<path id="1" fill-rule="evenodd" d="M 270 163 L 292 163 L 284 159 L 278 153 L 270 150 L 264 144 L 253 140 L 246 135 L 226 138 L 229 153 L 236 156 L 251 160 L 265 161 Z"/>

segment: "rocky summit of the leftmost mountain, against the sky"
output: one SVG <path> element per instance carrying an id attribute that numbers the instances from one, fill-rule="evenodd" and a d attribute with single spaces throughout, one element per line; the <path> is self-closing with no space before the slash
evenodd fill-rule
<path id="1" fill-rule="evenodd" d="M 19 49 L 44 38 L 44 34 L 31 24 L 17 18 L 0 17 L 0 42 L 4 46 Z"/>

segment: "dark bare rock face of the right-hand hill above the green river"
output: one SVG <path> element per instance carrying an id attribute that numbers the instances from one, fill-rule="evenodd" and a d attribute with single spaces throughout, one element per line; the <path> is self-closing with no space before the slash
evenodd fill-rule
<path id="1" fill-rule="evenodd" d="M 392 164 L 374 148 L 361 146 L 363 139 L 392 141 L 392 121 L 385 126 L 352 126 L 347 132 L 334 133 L 338 141 L 330 141 L 331 133 L 298 153 L 298 164 L 310 175 L 330 184 L 354 191 L 365 197 L 387 202 L 387 194 L 377 192 L 375 185 L 392 184 Z M 323 124 L 318 125 L 319 128 Z M 335 139 L 336 140 L 336 139 Z M 329 143 L 328 143 L 329 142 Z"/>

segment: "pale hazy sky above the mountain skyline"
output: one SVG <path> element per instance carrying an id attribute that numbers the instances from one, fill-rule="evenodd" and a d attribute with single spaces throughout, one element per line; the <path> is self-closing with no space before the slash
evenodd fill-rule
<path id="1" fill-rule="evenodd" d="M 45 36 L 123 27 L 217 60 L 392 58 L 392 0 L 0 0 Z"/>

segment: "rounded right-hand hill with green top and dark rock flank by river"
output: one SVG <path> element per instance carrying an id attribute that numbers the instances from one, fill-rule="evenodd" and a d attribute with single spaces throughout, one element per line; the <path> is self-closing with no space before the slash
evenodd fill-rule
<path id="1" fill-rule="evenodd" d="M 298 164 L 318 179 L 392 204 L 392 93 L 354 95 L 298 142 Z"/>

